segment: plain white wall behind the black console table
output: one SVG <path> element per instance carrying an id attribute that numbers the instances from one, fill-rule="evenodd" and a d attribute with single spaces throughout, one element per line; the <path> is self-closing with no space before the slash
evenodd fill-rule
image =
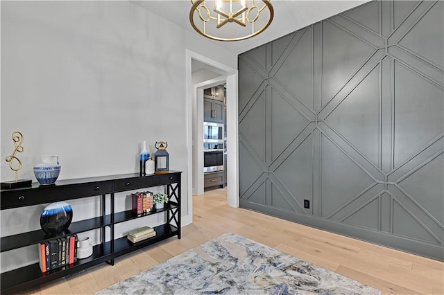
<path id="1" fill-rule="evenodd" d="M 42 154 L 60 157 L 59 179 L 113 175 L 138 172 L 142 141 L 151 153 L 168 141 L 187 217 L 186 49 L 237 68 L 234 53 L 129 1 L 1 1 L 1 159 L 19 130 L 21 179 L 35 181 Z M 72 203 L 74 220 L 96 211 Z M 1 235 L 38 229 L 41 208 L 2 211 Z M 37 255 L 27 253 L 2 271 Z"/>

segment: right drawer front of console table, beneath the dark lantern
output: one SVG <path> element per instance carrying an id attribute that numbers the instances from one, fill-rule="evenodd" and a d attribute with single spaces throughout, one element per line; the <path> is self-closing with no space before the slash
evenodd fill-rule
<path id="1" fill-rule="evenodd" d="M 150 175 L 147 177 L 135 177 L 119 179 L 114 181 L 114 191 L 138 190 L 148 186 L 163 186 L 165 184 L 176 184 L 180 180 L 180 174 Z"/>

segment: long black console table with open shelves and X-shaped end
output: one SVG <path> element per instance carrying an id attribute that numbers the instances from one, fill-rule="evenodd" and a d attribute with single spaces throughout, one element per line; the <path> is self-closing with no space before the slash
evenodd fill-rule
<path id="1" fill-rule="evenodd" d="M 46 233 L 40 229 L 1 237 L 1 252 L 6 252 L 55 238 L 63 238 L 74 233 L 82 233 L 94 229 L 99 229 L 101 232 L 101 243 L 94 246 L 92 256 L 85 259 L 78 259 L 74 265 L 42 273 L 39 264 L 34 263 L 26 267 L 19 267 L 4 272 L 0 277 L 1 294 L 16 294 L 17 292 L 48 283 L 102 262 L 108 262 L 108 264 L 114 265 L 114 258 L 123 254 L 130 253 L 175 235 L 180 239 L 181 173 L 182 172 L 179 171 L 170 171 L 167 174 L 150 176 L 126 174 L 84 179 L 67 179 L 56 181 L 56 184 L 50 186 L 41 186 L 38 183 L 33 183 L 32 186 L 28 188 L 0 190 L 1 210 L 94 196 L 101 196 L 102 208 L 101 216 L 72 222 L 69 229 L 63 233 L 46 235 Z M 131 210 L 119 211 L 119 208 L 114 208 L 114 193 L 139 190 L 153 186 L 166 186 L 167 195 L 169 195 L 169 202 L 165 204 L 164 208 L 153 209 L 153 211 L 146 214 L 155 215 L 162 212 L 166 214 L 165 223 L 154 227 L 156 232 L 155 237 L 135 244 L 129 242 L 126 236 L 114 238 L 115 224 L 141 218 L 137 217 Z M 108 213 L 105 210 L 107 202 L 110 202 L 110 212 Z M 122 210 L 122 208 L 120 208 L 120 210 Z M 123 208 L 123 210 L 125 210 L 125 208 Z M 75 208 L 74 214 L 76 214 Z M 35 220 L 35 222 L 39 221 Z M 107 228 L 110 232 L 110 240 L 108 242 L 105 240 L 105 230 Z M 37 247 L 35 248 L 37 250 Z"/>

